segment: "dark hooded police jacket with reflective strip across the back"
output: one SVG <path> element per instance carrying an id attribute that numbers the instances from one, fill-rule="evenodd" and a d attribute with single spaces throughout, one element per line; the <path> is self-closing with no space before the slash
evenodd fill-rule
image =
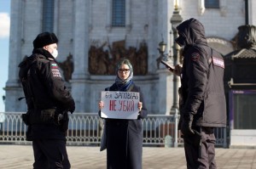
<path id="1" fill-rule="evenodd" d="M 204 27 L 197 20 L 183 22 L 177 31 L 177 42 L 184 44 L 180 122 L 193 115 L 193 125 L 226 127 L 223 57 L 207 46 Z"/>

